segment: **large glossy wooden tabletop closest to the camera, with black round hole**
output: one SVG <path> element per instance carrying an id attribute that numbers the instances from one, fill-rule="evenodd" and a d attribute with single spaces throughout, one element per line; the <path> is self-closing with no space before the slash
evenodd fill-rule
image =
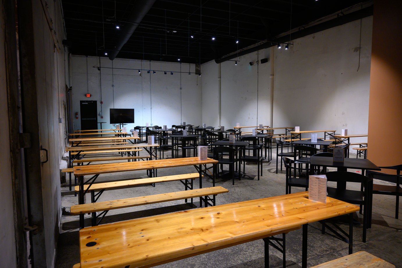
<path id="1" fill-rule="evenodd" d="M 154 266 L 349 214 L 358 206 L 307 192 L 197 208 L 80 230 L 82 268 Z"/>

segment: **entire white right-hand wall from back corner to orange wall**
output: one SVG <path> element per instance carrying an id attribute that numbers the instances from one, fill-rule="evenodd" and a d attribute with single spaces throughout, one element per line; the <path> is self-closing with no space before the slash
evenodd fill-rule
<path id="1" fill-rule="evenodd" d="M 367 133 L 372 19 L 361 20 L 359 71 L 360 20 L 292 40 L 289 50 L 273 48 L 273 127 Z M 237 66 L 220 64 L 223 126 L 270 124 L 270 49 L 239 57 Z M 257 66 L 261 58 L 269 62 Z M 219 64 L 208 62 L 202 70 L 202 120 L 217 126 Z M 358 141 L 366 138 L 352 142 Z"/>

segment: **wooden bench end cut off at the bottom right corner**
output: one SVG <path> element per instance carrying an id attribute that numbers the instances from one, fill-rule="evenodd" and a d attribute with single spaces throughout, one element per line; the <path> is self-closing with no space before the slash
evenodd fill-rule
<path id="1" fill-rule="evenodd" d="M 364 268 L 364 267 L 376 267 L 376 268 L 392 268 L 395 265 L 386 262 L 374 255 L 371 255 L 365 251 L 359 251 L 345 257 L 341 257 L 323 264 L 318 264 L 312 268 L 334 268 L 334 267 L 349 267 L 349 268 Z"/>

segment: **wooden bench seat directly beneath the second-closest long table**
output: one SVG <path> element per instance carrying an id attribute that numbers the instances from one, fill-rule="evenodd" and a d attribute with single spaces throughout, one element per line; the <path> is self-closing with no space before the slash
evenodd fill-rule
<path id="1" fill-rule="evenodd" d="M 202 176 L 203 177 L 203 176 Z M 133 186 L 139 186 L 144 184 L 165 182 L 165 181 L 179 181 L 183 179 L 198 179 L 199 173 L 189 173 L 189 174 L 179 174 L 163 177 L 153 177 L 144 179 L 129 179 L 124 181 L 112 181 L 103 183 L 94 183 L 90 187 L 90 191 L 98 192 L 105 189 L 117 189 L 117 188 L 127 188 Z M 88 185 L 84 185 L 84 191 L 87 190 Z M 80 192 L 80 186 L 75 186 L 74 191 Z"/>

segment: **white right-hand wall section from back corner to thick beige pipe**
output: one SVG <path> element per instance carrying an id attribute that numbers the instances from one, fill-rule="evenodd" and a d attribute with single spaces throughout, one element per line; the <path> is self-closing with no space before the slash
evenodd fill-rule
<path id="1" fill-rule="evenodd" d="M 220 125 L 233 128 L 268 125 L 271 118 L 271 89 L 269 87 L 270 62 L 256 64 L 269 58 L 269 50 L 239 56 L 221 64 L 208 62 L 203 71 L 203 123 L 219 125 L 219 68 L 221 71 Z M 250 66 L 249 62 L 254 65 Z M 257 102 L 258 99 L 258 102 Z M 204 122 L 205 121 L 205 122 Z"/>

